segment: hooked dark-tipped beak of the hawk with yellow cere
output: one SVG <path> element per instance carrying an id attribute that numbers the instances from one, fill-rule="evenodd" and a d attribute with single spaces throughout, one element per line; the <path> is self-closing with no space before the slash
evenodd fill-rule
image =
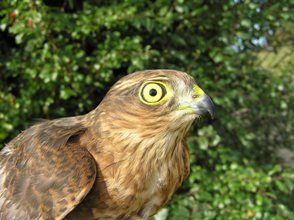
<path id="1" fill-rule="evenodd" d="M 211 98 L 205 93 L 191 103 L 191 108 L 199 116 L 209 115 L 211 119 L 214 119 L 214 104 Z"/>

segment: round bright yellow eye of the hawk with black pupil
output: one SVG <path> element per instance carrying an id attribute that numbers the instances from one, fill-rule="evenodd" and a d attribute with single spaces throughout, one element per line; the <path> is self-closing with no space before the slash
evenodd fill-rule
<path id="1" fill-rule="evenodd" d="M 166 94 L 167 87 L 162 82 L 146 82 L 140 89 L 140 99 L 147 105 L 160 103 Z"/>

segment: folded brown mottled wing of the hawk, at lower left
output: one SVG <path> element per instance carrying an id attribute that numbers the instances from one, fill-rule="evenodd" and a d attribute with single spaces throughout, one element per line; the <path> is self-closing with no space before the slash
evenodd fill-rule
<path id="1" fill-rule="evenodd" d="M 74 121 L 32 126 L 0 152 L 0 219 L 62 219 L 87 195 L 96 162 Z"/>

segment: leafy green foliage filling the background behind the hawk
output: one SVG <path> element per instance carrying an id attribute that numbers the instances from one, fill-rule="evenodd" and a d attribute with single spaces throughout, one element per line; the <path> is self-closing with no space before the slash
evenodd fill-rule
<path id="1" fill-rule="evenodd" d="M 156 219 L 294 219 L 293 171 L 276 153 L 293 145 L 294 68 L 257 62 L 293 22 L 291 8 L 291 0 L 2 1 L 0 143 L 34 118 L 90 111 L 127 73 L 183 70 L 213 98 L 217 120 L 193 128 L 191 175 Z"/>

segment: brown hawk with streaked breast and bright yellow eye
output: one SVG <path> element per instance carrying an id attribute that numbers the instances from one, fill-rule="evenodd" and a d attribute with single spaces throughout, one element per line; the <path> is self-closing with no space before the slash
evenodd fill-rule
<path id="1" fill-rule="evenodd" d="M 185 134 L 213 115 L 188 74 L 117 81 L 88 114 L 43 121 L 0 152 L 0 219 L 148 219 L 189 173 Z"/>

